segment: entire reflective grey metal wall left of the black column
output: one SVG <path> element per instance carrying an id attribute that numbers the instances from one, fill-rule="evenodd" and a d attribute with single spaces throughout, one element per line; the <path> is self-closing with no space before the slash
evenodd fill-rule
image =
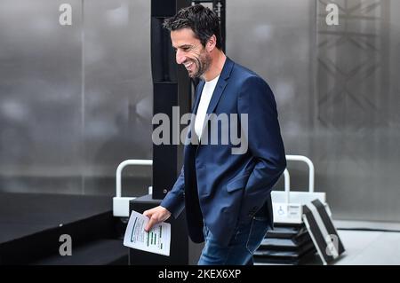
<path id="1" fill-rule="evenodd" d="M 62 3 L 0 3 L 0 190 L 112 194 L 152 157 L 149 3 L 68 1 L 61 26 Z"/>

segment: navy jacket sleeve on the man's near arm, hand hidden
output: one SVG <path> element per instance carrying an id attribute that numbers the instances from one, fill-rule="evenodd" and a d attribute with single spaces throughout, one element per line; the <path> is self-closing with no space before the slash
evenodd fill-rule
<path id="1" fill-rule="evenodd" d="M 286 168 L 286 159 L 276 101 L 268 84 L 256 75 L 247 78 L 240 90 L 237 106 L 239 114 L 248 114 L 248 129 L 244 129 L 244 137 L 256 161 L 244 191 L 242 212 L 248 215 L 255 214 L 267 200 L 272 186 Z"/>

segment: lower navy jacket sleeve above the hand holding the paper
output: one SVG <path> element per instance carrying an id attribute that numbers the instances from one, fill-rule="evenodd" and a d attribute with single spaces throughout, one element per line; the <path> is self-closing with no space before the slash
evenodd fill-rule
<path id="1" fill-rule="evenodd" d="M 180 169 L 180 176 L 177 178 L 172 190 L 167 193 L 160 205 L 167 208 L 175 218 L 185 208 L 185 177 L 183 167 Z"/>

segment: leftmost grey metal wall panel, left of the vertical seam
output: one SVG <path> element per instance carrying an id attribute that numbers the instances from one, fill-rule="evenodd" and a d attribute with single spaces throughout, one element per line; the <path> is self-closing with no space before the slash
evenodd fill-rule
<path id="1" fill-rule="evenodd" d="M 61 1 L 0 3 L 2 190 L 77 193 L 81 158 L 80 1 L 60 26 Z"/>

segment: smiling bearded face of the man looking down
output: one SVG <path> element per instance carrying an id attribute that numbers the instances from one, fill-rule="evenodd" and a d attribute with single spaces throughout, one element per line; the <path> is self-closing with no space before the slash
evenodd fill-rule
<path id="1" fill-rule="evenodd" d="M 208 70 L 212 62 L 195 33 L 190 28 L 171 31 L 172 47 L 176 51 L 176 62 L 183 64 L 191 78 L 200 77 Z"/>

